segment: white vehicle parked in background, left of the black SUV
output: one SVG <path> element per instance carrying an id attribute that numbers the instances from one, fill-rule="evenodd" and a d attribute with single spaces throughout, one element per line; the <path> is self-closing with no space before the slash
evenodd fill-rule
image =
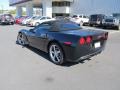
<path id="1" fill-rule="evenodd" d="M 89 18 L 88 16 L 85 16 L 85 15 L 73 15 L 73 17 L 71 18 L 71 21 L 82 26 L 89 23 Z"/>

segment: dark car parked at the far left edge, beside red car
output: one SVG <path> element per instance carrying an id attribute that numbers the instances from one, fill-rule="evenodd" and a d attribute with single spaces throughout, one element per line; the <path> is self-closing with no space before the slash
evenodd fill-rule
<path id="1" fill-rule="evenodd" d="M 11 14 L 0 15 L 0 24 L 14 24 L 15 20 Z"/>

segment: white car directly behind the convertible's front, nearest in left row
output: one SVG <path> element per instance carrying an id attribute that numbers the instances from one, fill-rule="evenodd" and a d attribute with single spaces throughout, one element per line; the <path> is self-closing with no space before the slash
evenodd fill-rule
<path id="1" fill-rule="evenodd" d="M 47 17 L 47 16 L 38 16 L 34 18 L 33 20 L 31 20 L 31 22 L 29 23 L 29 26 L 38 26 L 39 24 L 43 22 L 52 21 L 52 20 L 55 20 L 55 19 L 51 17 Z"/>

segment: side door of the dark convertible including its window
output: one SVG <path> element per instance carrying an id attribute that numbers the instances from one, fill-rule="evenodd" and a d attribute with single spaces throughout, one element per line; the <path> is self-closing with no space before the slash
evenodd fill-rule
<path id="1" fill-rule="evenodd" d="M 31 34 L 30 38 L 32 46 L 44 51 L 44 45 L 48 39 L 47 32 L 49 29 L 50 26 L 48 24 L 39 25 L 36 30 L 34 30 L 35 32 Z"/>

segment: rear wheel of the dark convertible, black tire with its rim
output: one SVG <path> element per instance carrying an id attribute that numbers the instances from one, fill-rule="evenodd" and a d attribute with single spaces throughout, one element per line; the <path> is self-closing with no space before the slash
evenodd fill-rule
<path id="1" fill-rule="evenodd" d="M 49 57 L 54 64 L 62 65 L 65 62 L 65 55 L 62 48 L 57 43 L 49 46 Z"/>

